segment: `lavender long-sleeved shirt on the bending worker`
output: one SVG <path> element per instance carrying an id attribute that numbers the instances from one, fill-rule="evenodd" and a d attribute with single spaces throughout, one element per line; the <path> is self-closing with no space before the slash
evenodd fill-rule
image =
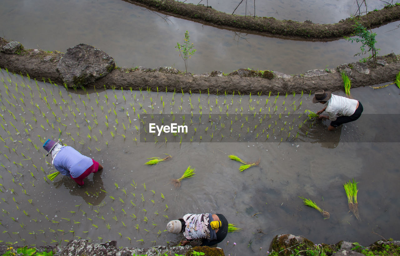
<path id="1" fill-rule="evenodd" d="M 76 151 L 73 147 L 62 147 L 53 160 L 54 167 L 62 175 L 78 178 L 93 165 L 91 158 Z"/>

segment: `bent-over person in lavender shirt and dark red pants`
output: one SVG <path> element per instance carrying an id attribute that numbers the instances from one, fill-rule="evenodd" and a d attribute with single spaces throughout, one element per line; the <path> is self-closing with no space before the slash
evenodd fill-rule
<path id="1" fill-rule="evenodd" d="M 78 187 L 84 185 L 83 179 L 90 173 L 101 171 L 103 166 L 93 159 L 86 157 L 76 151 L 73 147 L 62 146 L 58 142 L 48 139 L 43 148 L 53 157 L 52 164 L 62 175 L 71 176 L 78 183 Z"/>

